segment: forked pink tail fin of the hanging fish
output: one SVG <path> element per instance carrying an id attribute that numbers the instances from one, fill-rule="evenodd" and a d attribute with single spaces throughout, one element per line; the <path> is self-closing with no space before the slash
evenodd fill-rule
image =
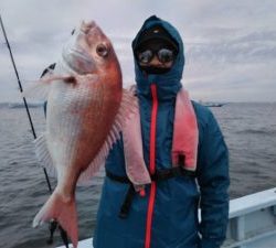
<path id="1" fill-rule="evenodd" d="M 67 233 L 73 247 L 77 247 L 77 213 L 75 197 L 64 200 L 56 191 L 53 192 L 47 202 L 33 219 L 33 227 L 36 227 L 46 220 L 55 219 Z"/>

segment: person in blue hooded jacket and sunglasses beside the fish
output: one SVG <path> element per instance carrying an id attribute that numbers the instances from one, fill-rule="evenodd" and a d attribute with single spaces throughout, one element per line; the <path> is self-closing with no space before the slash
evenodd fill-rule
<path id="1" fill-rule="evenodd" d="M 211 111 L 197 103 L 187 104 L 195 114 L 194 133 L 199 133 L 192 140 L 198 141 L 197 168 L 185 168 L 188 153 L 179 155 L 179 166 L 172 165 L 176 133 L 189 131 L 185 123 L 176 126 L 182 40 L 171 24 L 153 15 L 145 21 L 132 50 L 144 160 L 151 184 L 140 195 L 131 190 L 120 139 L 106 161 L 94 248 L 217 248 L 227 225 L 227 148 Z M 189 145 L 190 140 L 179 139 Z"/>

